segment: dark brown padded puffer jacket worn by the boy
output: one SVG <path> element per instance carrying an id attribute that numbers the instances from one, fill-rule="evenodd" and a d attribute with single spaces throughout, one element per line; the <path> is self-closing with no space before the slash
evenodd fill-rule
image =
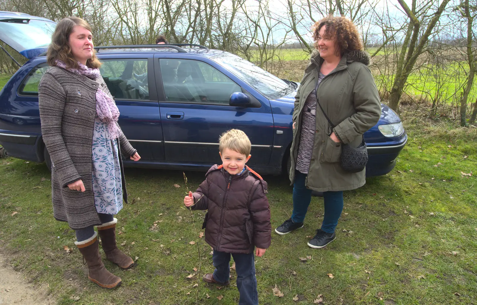
<path id="1" fill-rule="evenodd" d="M 214 165 L 206 177 L 193 193 L 192 206 L 192 210 L 208 210 L 206 242 L 229 253 L 250 253 L 254 246 L 267 249 L 271 242 L 267 182 L 249 167 L 238 176 Z"/>

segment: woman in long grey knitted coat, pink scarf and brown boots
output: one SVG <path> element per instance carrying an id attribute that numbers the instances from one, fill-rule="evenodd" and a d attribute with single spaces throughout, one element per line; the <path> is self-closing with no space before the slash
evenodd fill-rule
<path id="1" fill-rule="evenodd" d="M 88 278 L 111 289 L 121 278 L 104 268 L 94 226 L 107 259 L 133 267 L 116 246 L 113 215 L 127 202 L 120 153 L 134 161 L 141 157 L 117 124 L 119 110 L 99 72 L 91 32 L 78 17 L 58 22 L 48 48 L 52 68 L 41 78 L 38 97 L 43 142 L 52 159 L 54 218 L 75 230 Z"/>

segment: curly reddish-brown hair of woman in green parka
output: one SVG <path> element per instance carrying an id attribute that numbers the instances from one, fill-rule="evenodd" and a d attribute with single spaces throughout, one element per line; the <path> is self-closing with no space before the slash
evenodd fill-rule
<path id="1" fill-rule="evenodd" d="M 345 17 L 327 16 L 316 21 L 311 27 L 315 48 L 318 50 L 318 37 L 321 27 L 326 25 L 325 38 L 336 37 L 338 51 L 343 54 L 350 51 L 363 50 L 360 34 L 353 21 Z"/>

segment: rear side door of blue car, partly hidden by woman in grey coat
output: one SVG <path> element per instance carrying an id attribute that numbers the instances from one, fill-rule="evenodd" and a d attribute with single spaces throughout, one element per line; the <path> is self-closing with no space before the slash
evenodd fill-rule
<path id="1" fill-rule="evenodd" d="M 117 54 L 103 55 L 100 71 L 121 113 L 119 126 L 137 149 L 140 162 L 164 160 L 155 76 L 150 73 L 154 71 L 153 58 L 150 54 L 141 56 L 130 54 L 118 58 Z"/>

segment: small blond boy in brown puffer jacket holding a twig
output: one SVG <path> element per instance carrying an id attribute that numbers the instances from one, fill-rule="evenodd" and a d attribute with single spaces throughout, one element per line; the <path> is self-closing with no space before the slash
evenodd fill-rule
<path id="1" fill-rule="evenodd" d="M 184 204 L 192 210 L 208 210 L 202 228 L 214 253 L 214 273 L 203 280 L 228 285 L 230 254 L 235 261 L 239 305 L 258 305 L 255 254 L 262 256 L 270 246 L 270 206 L 265 195 L 267 182 L 245 165 L 250 159 L 250 140 L 238 129 L 220 137 L 222 165 L 211 167 L 196 192 Z"/>

